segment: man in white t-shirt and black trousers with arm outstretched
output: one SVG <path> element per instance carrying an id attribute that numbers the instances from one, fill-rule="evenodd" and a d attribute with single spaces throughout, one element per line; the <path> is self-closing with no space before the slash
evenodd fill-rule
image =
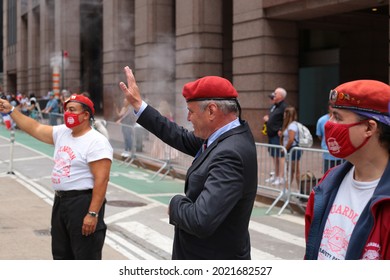
<path id="1" fill-rule="evenodd" d="M 36 139 L 54 145 L 53 258 L 100 260 L 107 230 L 103 216 L 113 150 L 107 138 L 91 127 L 95 114 L 92 101 L 71 95 L 64 103 L 65 124 L 57 126 L 41 124 L 2 99 L 0 113 L 9 114 L 20 129 Z"/>

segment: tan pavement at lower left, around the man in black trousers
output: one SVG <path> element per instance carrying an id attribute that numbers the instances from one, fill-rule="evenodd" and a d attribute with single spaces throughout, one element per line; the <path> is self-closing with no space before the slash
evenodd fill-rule
<path id="1" fill-rule="evenodd" d="M 17 175 L 0 176 L 0 259 L 50 260 L 51 205 Z M 105 245 L 103 259 L 127 259 Z"/>

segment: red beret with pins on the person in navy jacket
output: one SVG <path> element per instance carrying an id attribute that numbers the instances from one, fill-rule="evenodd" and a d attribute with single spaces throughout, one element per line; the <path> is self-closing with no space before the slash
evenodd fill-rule
<path id="1" fill-rule="evenodd" d="M 390 86 L 375 80 L 356 80 L 330 91 L 334 108 L 352 110 L 357 114 L 390 125 Z"/>

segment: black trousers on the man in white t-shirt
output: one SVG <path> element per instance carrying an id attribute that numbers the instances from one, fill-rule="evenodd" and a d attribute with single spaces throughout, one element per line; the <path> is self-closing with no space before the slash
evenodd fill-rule
<path id="1" fill-rule="evenodd" d="M 72 192 L 74 193 L 74 191 Z M 99 212 L 96 231 L 84 236 L 81 228 L 92 193 L 55 196 L 51 217 L 52 254 L 55 260 L 101 260 L 107 226 L 103 221 L 105 203 Z"/>

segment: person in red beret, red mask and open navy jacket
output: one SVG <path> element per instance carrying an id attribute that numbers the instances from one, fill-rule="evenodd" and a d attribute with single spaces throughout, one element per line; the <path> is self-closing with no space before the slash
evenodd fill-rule
<path id="1" fill-rule="evenodd" d="M 305 259 L 390 259 L 390 86 L 356 80 L 330 92 L 329 169 L 310 194 Z"/>

